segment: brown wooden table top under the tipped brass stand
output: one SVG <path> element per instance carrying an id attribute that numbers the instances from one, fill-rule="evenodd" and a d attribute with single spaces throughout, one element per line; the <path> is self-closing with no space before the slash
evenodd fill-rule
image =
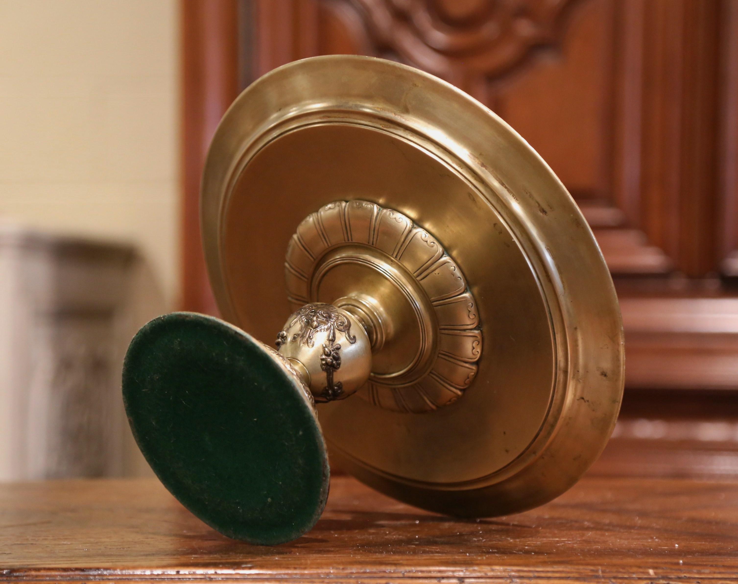
<path id="1" fill-rule="evenodd" d="M 155 480 L 0 485 L 0 580 L 314 583 L 738 580 L 738 481 L 586 477 L 519 515 L 458 521 L 334 478 L 293 543 L 229 540 Z"/>

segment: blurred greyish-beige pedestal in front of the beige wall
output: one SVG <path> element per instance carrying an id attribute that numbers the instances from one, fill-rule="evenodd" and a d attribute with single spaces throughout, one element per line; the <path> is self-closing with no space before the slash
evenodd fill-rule
<path id="1" fill-rule="evenodd" d="M 128 244 L 0 224 L 0 481 L 143 468 L 120 401 L 140 268 Z"/>

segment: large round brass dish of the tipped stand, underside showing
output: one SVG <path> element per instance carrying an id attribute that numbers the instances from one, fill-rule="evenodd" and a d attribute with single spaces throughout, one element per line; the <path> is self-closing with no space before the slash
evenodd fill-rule
<path id="1" fill-rule="evenodd" d="M 474 325 L 449 329 L 460 332 L 447 335 L 451 345 L 433 336 L 434 295 L 420 294 L 390 244 L 379 254 L 343 233 L 309 268 L 289 259 L 306 217 L 364 203 L 406 218 L 403 229 L 427 230 L 463 274 Z M 382 395 L 363 388 L 369 399 L 318 411 L 334 461 L 376 489 L 452 515 L 517 512 L 568 489 L 607 442 L 623 332 L 592 232 L 533 149 L 448 83 L 354 56 L 290 63 L 252 83 L 215 134 L 202 230 L 222 314 L 256 337 L 273 339 L 300 303 L 333 303 L 362 323 L 373 351 L 368 387 L 389 376 Z M 286 257 L 305 286 L 286 283 Z M 402 302 L 418 307 L 415 320 L 394 312 Z M 399 330 L 384 326 L 396 322 Z M 431 331 L 425 346 L 421 323 Z M 476 361 L 459 358 L 467 330 L 483 337 Z M 412 343 L 400 348 L 400 338 Z M 407 388 L 425 387 L 449 356 L 476 367 L 463 396 L 398 411 L 413 408 L 393 392 L 416 395 Z"/>

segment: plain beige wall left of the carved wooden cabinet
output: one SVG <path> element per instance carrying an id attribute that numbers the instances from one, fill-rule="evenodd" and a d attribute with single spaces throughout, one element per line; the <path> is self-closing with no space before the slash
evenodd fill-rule
<path id="1" fill-rule="evenodd" d="M 176 0 L 0 0 L 0 219 L 133 241 L 179 282 Z"/>

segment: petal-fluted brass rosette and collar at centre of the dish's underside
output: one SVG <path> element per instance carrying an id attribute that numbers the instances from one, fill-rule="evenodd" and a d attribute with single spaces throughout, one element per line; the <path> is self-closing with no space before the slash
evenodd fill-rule
<path id="1" fill-rule="evenodd" d="M 333 302 L 367 329 L 373 367 L 359 395 L 373 405 L 428 412 L 472 383 L 482 352 L 474 297 L 444 247 L 402 213 L 324 205 L 297 226 L 285 275 L 294 307 Z"/>

